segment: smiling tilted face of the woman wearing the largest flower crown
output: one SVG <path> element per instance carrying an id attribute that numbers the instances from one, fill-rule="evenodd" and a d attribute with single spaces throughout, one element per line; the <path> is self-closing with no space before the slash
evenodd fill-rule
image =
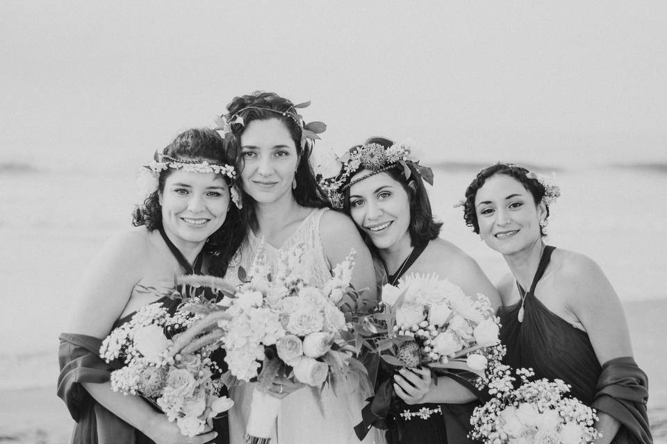
<path id="1" fill-rule="evenodd" d="M 362 170 L 352 177 L 365 176 Z M 349 189 L 349 214 L 379 250 L 411 245 L 410 196 L 388 173 L 356 182 Z"/>

